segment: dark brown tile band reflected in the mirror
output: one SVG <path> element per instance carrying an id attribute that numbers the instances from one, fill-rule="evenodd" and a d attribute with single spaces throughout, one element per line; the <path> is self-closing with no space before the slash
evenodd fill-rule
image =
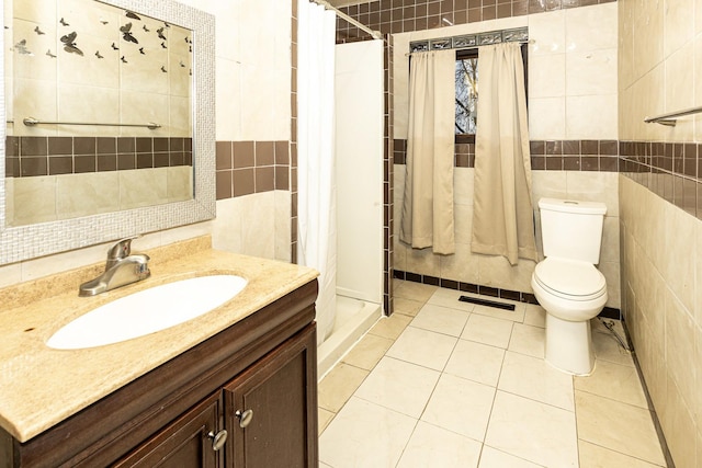
<path id="1" fill-rule="evenodd" d="M 8 136 L 5 176 L 192 165 L 192 138 Z"/>

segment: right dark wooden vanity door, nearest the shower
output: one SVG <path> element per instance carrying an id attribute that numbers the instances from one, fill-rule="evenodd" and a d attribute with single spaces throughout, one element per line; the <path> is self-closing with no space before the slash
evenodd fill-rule
<path id="1" fill-rule="evenodd" d="M 317 467 L 315 323 L 224 388 L 226 464 L 237 468 Z"/>

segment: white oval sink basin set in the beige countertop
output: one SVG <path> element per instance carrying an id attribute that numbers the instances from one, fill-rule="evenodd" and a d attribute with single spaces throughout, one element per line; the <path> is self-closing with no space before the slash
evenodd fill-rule
<path id="1" fill-rule="evenodd" d="M 199 276 L 155 286 L 78 317 L 48 339 L 55 350 L 79 350 L 144 336 L 200 317 L 239 294 L 235 275 Z"/>

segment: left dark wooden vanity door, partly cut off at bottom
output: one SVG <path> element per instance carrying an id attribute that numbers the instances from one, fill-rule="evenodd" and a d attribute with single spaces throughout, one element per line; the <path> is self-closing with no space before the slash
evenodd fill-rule
<path id="1" fill-rule="evenodd" d="M 217 392 L 167 425 L 131 454 L 116 467 L 217 468 L 222 466 L 223 449 L 213 447 L 218 432 L 222 397 Z"/>

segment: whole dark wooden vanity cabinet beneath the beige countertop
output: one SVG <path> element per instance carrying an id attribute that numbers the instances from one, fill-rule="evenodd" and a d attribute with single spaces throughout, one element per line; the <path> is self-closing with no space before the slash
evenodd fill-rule
<path id="1" fill-rule="evenodd" d="M 25 443 L 0 430 L 0 467 L 316 467 L 316 297 L 314 279 Z"/>

